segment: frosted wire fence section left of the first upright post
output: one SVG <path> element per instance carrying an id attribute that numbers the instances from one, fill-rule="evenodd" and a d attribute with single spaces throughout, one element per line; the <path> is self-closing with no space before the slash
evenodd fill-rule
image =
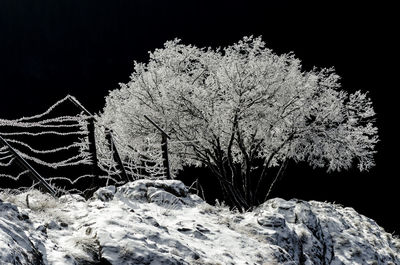
<path id="1" fill-rule="evenodd" d="M 84 193 L 105 181 L 94 179 L 91 167 L 87 126 L 90 116 L 78 113 L 68 102 L 69 97 L 39 115 L 0 119 L 0 136 L 58 191 Z M 37 185 L 28 174 L 7 147 L 0 145 L 0 188 L 24 189 Z"/>

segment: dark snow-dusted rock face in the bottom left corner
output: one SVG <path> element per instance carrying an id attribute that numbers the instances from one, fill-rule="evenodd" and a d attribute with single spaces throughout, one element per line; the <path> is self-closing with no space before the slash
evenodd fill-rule
<path id="1" fill-rule="evenodd" d="M 43 264 L 27 234 L 29 226 L 15 205 L 0 201 L 0 264 Z"/>

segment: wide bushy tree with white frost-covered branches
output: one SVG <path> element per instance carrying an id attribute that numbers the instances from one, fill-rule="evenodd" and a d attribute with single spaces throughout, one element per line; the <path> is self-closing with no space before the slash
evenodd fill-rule
<path id="1" fill-rule="evenodd" d="M 99 121 L 146 152 L 159 139 L 144 114 L 172 137 L 172 169 L 207 166 L 240 209 L 259 202 L 268 173 L 289 159 L 328 171 L 374 165 L 370 99 L 340 90 L 332 69 L 302 70 L 293 54 L 277 55 L 261 38 L 217 50 L 168 41 L 148 63 L 135 62 Z"/>

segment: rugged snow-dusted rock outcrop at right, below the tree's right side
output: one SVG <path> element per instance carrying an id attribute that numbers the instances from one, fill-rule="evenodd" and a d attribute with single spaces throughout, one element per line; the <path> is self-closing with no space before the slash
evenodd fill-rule
<path id="1" fill-rule="evenodd" d="M 272 199 L 255 211 L 265 241 L 295 264 L 400 264 L 399 241 L 352 208 Z"/>

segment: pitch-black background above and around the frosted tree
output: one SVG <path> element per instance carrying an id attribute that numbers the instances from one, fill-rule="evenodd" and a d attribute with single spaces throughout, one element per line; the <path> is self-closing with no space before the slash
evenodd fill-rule
<path id="1" fill-rule="evenodd" d="M 292 164 L 273 195 L 341 203 L 398 234 L 395 9 L 351 2 L 0 0 L 0 118 L 42 112 L 66 94 L 99 112 L 133 60 L 167 40 L 219 47 L 262 35 L 305 70 L 334 66 L 344 89 L 368 91 L 381 139 L 369 173 Z"/>

